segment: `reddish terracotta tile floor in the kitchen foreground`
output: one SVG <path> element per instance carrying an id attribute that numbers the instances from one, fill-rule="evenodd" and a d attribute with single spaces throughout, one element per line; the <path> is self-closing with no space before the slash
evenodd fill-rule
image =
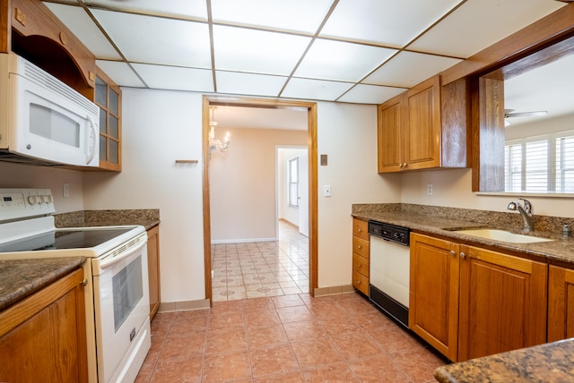
<path id="1" fill-rule="evenodd" d="M 359 294 L 158 313 L 136 382 L 433 382 L 445 364 Z"/>

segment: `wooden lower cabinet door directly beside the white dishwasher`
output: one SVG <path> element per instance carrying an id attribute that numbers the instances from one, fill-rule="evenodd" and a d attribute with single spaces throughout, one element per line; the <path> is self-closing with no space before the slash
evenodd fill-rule
<path id="1" fill-rule="evenodd" d="M 409 328 L 451 361 L 458 347 L 458 244 L 411 234 Z"/>

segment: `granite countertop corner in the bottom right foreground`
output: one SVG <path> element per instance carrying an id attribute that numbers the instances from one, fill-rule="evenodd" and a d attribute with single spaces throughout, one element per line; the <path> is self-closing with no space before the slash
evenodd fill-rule
<path id="1" fill-rule="evenodd" d="M 574 339 L 568 339 L 449 364 L 434 377 L 442 383 L 571 382 L 573 365 Z"/>

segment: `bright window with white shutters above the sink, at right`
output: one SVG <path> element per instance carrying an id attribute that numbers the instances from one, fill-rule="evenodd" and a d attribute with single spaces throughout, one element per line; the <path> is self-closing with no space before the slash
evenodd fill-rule
<path id="1" fill-rule="evenodd" d="M 574 192 L 574 131 L 508 140 L 506 191 Z"/>

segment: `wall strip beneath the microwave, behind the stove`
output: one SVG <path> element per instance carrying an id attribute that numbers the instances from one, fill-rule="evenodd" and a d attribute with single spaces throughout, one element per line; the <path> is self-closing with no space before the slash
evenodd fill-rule
<path id="1" fill-rule="evenodd" d="M 68 198 L 64 198 L 63 183 L 70 185 Z M 0 162 L 0 188 L 50 189 L 57 213 L 83 210 L 83 172 Z"/>

